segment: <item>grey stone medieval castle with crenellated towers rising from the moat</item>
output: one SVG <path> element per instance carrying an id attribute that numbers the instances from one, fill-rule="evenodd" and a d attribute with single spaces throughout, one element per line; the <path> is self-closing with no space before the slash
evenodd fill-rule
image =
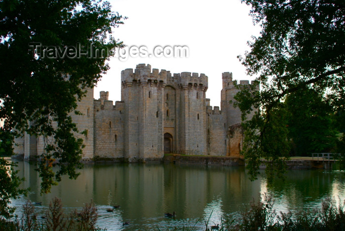
<path id="1" fill-rule="evenodd" d="M 121 101 L 108 100 L 93 89 L 78 102 L 83 115 L 72 115 L 84 140 L 84 159 L 162 159 L 164 153 L 240 156 L 243 133 L 241 112 L 229 103 L 239 91 L 232 73 L 222 74 L 221 110 L 209 105 L 205 74 L 152 69 L 138 64 L 121 72 Z M 248 85 L 248 80 L 240 84 Z M 253 82 L 251 83 L 253 84 Z M 258 86 L 257 86 L 258 89 Z M 16 154 L 25 159 L 43 151 L 42 137 L 17 138 Z"/>

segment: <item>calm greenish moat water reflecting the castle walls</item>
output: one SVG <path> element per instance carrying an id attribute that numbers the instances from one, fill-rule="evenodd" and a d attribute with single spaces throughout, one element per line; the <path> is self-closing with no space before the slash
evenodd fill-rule
<path id="1" fill-rule="evenodd" d="M 63 178 L 51 193 L 40 195 L 40 180 L 35 165 L 19 162 L 20 176 L 27 179 L 28 197 L 13 201 L 17 213 L 26 199 L 41 201 L 36 211 L 43 214 L 54 196 L 60 197 L 66 213 L 80 210 L 94 200 L 99 213 L 98 226 L 107 230 L 169 230 L 194 225 L 205 230 L 220 223 L 221 217 L 238 216 L 250 207 L 250 202 L 267 193 L 275 200 L 277 211 L 296 211 L 320 207 L 330 196 L 338 202 L 345 199 L 345 175 L 328 170 L 290 170 L 284 184 L 277 182 L 268 188 L 262 172 L 250 182 L 244 167 L 173 165 L 173 164 L 112 164 L 85 165 L 77 180 Z M 112 205 L 114 212 L 106 212 Z M 176 212 L 176 219 L 164 213 Z M 130 225 L 123 227 L 122 223 Z"/>

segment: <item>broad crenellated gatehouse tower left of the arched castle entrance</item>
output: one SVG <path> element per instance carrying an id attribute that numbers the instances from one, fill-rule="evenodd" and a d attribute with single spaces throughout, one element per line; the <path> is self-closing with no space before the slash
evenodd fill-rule
<path id="1" fill-rule="evenodd" d="M 163 94 L 167 72 L 138 64 L 121 72 L 125 102 L 125 157 L 135 160 L 163 157 Z"/>

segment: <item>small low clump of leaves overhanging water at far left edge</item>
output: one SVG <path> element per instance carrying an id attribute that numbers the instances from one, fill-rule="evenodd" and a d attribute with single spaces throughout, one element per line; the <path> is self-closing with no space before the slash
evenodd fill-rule
<path id="1" fill-rule="evenodd" d="M 24 179 L 17 176 L 18 170 L 14 170 L 15 166 L 15 163 L 0 158 L 0 219 L 12 217 L 15 208 L 8 205 L 11 199 L 27 193 L 27 190 L 18 189 Z"/>

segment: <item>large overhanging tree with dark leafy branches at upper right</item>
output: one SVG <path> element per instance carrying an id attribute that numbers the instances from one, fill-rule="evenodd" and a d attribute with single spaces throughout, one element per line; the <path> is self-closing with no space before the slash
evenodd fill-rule
<path id="1" fill-rule="evenodd" d="M 276 147 L 276 152 L 264 151 L 270 142 L 285 142 L 285 136 L 269 133 L 268 128 L 286 97 L 311 88 L 333 110 L 344 107 L 345 3 L 343 0 L 242 2 L 251 6 L 253 21 L 262 28 L 260 36 L 248 42 L 251 50 L 244 57 L 239 56 L 247 74 L 257 76 L 261 91 L 256 93 L 254 88 L 248 88 L 235 97 L 242 119 L 251 110 L 260 109 L 244 122 L 247 133 L 254 134 L 246 138 L 243 151 L 254 179 L 258 155 L 274 165 L 277 153 L 286 156 L 279 151 L 280 147 Z M 275 172 L 279 168 L 271 171 L 268 178 L 272 179 Z"/>

